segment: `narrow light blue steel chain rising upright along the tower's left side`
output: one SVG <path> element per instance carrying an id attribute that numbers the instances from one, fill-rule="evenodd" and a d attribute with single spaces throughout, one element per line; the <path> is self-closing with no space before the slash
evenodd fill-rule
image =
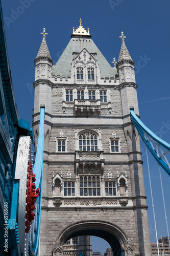
<path id="1" fill-rule="evenodd" d="M 36 188 L 40 189 L 40 196 L 37 199 L 38 214 L 37 214 L 37 230 L 35 233 L 34 247 L 30 248 L 34 251 L 35 255 L 38 254 L 39 236 L 40 236 L 40 222 L 41 222 L 41 201 L 42 201 L 42 175 L 43 175 L 43 151 L 44 151 L 44 117 L 45 108 L 40 110 L 40 125 L 38 135 L 38 146 L 34 165 L 34 174 L 36 177 Z"/>

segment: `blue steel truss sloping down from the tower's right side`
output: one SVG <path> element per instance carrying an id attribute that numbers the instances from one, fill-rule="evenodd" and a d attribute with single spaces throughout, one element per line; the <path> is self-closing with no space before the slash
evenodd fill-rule
<path id="1" fill-rule="evenodd" d="M 166 141 L 160 139 L 156 134 L 154 134 L 147 126 L 145 126 L 142 121 L 135 115 L 134 110 L 130 109 L 131 120 L 135 125 L 140 137 L 143 142 L 149 148 L 150 152 L 156 159 L 156 161 L 161 165 L 165 172 L 170 176 L 170 165 L 165 157 L 166 153 L 170 153 L 170 144 Z M 155 143 L 155 147 L 153 145 Z M 161 154 L 159 154 L 159 151 Z"/>

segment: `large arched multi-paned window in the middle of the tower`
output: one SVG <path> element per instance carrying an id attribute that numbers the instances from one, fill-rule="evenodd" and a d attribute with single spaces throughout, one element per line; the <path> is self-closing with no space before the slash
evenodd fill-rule
<path id="1" fill-rule="evenodd" d="M 95 134 L 85 132 L 79 135 L 79 149 L 82 151 L 97 151 L 98 138 Z"/>

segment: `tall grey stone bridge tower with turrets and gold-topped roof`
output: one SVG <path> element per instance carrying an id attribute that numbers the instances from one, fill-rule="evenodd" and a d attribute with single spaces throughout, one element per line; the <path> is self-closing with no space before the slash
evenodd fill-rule
<path id="1" fill-rule="evenodd" d="M 130 118 L 130 108 L 139 115 L 137 84 L 125 36 L 111 67 L 81 19 L 55 66 L 45 29 L 42 35 L 33 83 L 35 150 L 45 106 L 40 255 L 74 254 L 66 241 L 81 236 L 89 255 L 90 236 L 98 236 L 115 256 L 150 256 L 140 138 Z"/>

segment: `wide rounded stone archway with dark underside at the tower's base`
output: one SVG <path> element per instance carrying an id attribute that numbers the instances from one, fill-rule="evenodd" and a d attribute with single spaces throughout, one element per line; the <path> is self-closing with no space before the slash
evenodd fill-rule
<path id="1" fill-rule="evenodd" d="M 125 232 L 118 226 L 106 221 L 81 221 L 67 226 L 59 234 L 56 241 L 61 247 L 71 238 L 79 236 L 95 236 L 106 240 L 113 251 L 113 255 L 123 255 L 124 247 L 127 245 L 128 238 Z"/>

